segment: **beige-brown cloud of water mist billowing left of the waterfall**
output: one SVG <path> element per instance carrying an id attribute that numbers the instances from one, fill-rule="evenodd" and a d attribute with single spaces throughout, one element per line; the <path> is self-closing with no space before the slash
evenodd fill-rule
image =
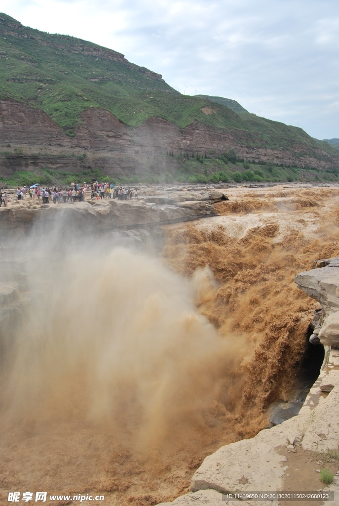
<path id="1" fill-rule="evenodd" d="M 208 269 L 188 280 L 109 240 L 43 234 L 23 246 L 30 302 L 5 350 L 0 413 L 16 476 L 107 489 L 114 451 L 155 470 L 166 452 L 220 437 L 239 361 L 197 310 L 215 290 Z"/>

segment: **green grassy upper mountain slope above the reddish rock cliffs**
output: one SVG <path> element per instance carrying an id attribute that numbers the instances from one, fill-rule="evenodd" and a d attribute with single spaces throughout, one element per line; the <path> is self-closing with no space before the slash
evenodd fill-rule
<path id="1" fill-rule="evenodd" d="M 0 14 L 0 99 L 7 98 L 41 108 L 70 136 L 82 111 L 102 107 L 130 126 L 152 116 L 180 128 L 199 121 L 231 130 L 253 148 L 300 152 L 296 146 L 303 145 L 309 154 L 319 147 L 330 156 L 337 154 L 302 129 L 249 114 L 235 101 L 181 95 L 160 74 L 128 62 L 121 53 L 25 27 Z"/>

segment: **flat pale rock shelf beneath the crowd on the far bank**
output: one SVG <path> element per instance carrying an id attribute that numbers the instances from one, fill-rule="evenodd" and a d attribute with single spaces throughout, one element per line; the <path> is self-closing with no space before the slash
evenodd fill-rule
<path id="1" fill-rule="evenodd" d="M 12 192 L 13 193 L 13 192 Z M 2 232 L 27 232 L 38 220 L 47 226 L 63 217 L 76 230 L 114 230 L 133 227 L 178 223 L 197 218 L 216 216 L 214 202 L 226 195 L 216 190 L 188 191 L 187 189 L 139 191 L 138 199 L 90 200 L 74 204 L 42 204 L 35 200 L 16 201 L 12 195 L 8 207 L 0 208 Z"/>

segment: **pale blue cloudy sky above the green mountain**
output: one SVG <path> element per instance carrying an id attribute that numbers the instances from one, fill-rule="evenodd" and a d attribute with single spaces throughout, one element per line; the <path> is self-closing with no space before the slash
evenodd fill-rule
<path id="1" fill-rule="evenodd" d="M 0 11 L 119 51 L 180 93 L 339 137 L 337 0 L 0 0 Z"/>

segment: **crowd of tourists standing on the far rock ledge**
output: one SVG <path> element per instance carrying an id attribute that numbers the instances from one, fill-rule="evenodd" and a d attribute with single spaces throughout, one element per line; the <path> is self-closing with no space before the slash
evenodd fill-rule
<path id="1" fill-rule="evenodd" d="M 31 188 L 23 186 L 22 188 L 17 188 L 17 199 L 24 200 L 25 198 L 30 198 L 32 200 L 37 200 L 40 202 L 42 198 L 43 204 L 49 204 L 50 199 L 53 199 L 53 203 L 74 203 L 74 202 L 82 202 L 85 200 L 85 193 L 90 192 L 91 200 L 94 199 L 105 199 L 105 198 L 117 198 L 118 200 L 129 200 L 132 197 L 138 198 L 138 190 L 125 188 L 124 186 L 117 186 L 113 183 L 98 183 L 95 181 L 90 183 L 89 185 L 84 183 L 83 187 L 80 188 L 78 183 L 72 183 L 72 188 L 57 188 L 51 189 L 49 187 L 39 188 L 40 185 L 34 185 Z M 5 191 L 4 193 L 0 191 L 0 207 L 4 203 L 7 205 L 8 195 Z"/>

